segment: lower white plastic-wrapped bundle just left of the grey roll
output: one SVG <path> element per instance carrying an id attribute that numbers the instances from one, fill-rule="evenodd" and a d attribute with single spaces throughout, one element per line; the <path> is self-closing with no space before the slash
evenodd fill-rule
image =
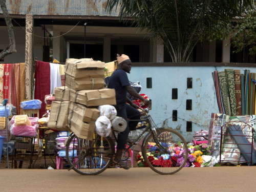
<path id="1" fill-rule="evenodd" d="M 100 116 L 95 122 L 95 132 L 102 136 L 108 137 L 111 133 L 111 122 L 106 116 Z"/>

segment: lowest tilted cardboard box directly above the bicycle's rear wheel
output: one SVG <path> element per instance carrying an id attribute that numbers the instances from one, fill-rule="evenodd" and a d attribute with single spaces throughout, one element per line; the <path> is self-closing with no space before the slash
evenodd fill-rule
<path id="1" fill-rule="evenodd" d="M 95 123 L 84 123 L 82 119 L 73 116 L 70 130 L 81 139 L 93 140 Z"/>

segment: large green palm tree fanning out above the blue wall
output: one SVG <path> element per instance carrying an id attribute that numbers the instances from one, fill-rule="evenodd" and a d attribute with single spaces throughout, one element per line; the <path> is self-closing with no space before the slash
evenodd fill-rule
<path id="1" fill-rule="evenodd" d="M 164 42 L 173 62 L 188 62 L 201 40 L 218 37 L 231 18 L 241 15 L 253 0 L 108 0 L 109 13 Z"/>

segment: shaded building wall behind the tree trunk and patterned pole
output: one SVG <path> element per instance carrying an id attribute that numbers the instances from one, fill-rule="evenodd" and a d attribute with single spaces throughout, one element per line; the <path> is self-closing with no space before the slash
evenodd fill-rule
<path id="1" fill-rule="evenodd" d="M 0 34 L 1 34 L 0 49 L 5 49 L 9 45 L 7 27 L 0 27 Z M 4 63 L 25 62 L 25 40 L 26 40 L 25 27 L 23 28 L 14 27 L 14 37 L 15 37 L 17 52 L 6 56 L 3 61 Z M 34 57 L 37 57 L 37 60 L 42 60 L 42 46 L 44 45 L 43 37 L 44 37 L 44 30 L 42 30 L 41 27 L 34 27 L 33 55 Z"/>

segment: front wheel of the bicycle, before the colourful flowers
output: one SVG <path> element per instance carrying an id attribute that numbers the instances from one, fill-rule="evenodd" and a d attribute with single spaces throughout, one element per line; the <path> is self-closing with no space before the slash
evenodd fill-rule
<path id="1" fill-rule="evenodd" d="M 188 147 L 178 132 L 158 128 L 145 138 L 142 155 L 146 166 L 154 172 L 170 175 L 177 173 L 187 163 Z"/>

